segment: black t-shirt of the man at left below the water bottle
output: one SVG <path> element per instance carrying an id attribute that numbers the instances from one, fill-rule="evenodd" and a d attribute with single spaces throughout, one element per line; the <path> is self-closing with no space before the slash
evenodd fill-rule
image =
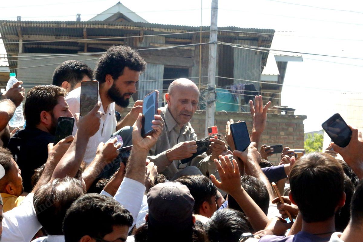
<path id="1" fill-rule="evenodd" d="M 48 144 L 53 143 L 54 136 L 38 128 L 21 129 L 10 138 L 8 148 L 21 169 L 25 192 L 31 192 L 34 169 L 48 159 Z"/>

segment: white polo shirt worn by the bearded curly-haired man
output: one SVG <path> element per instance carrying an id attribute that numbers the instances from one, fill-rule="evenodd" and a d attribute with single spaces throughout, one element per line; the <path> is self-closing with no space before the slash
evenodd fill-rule
<path id="1" fill-rule="evenodd" d="M 67 103 L 69 105 L 69 110 L 72 112 L 73 116 L 79 113 L 79 103 L 81 101 L 81 87 L 78 87 L 71 91 L 66 97 Z M 101 102 L 101 98 L 98 94 L 98 101 Z M 102 112 L 101 124 L 99 125 L 99 130 L 95 135 L 93 135 L 87 144 L 87 149 L 83 160 L 89 164 L 96 156 L 96 151 L 99 143 L 105 143 L 111 138 L 111 135 L 116 131 L 117 121 L 115 117 L 115 103 L 111 103 L 107 106 L 106 111 L 104 110 L 101 102 L 101 107 L 99 108 Z M 92 124 L 89 124 L 92 125 Z M 73 135 L 76 135 L 77 124 L 74 124 Z"/>

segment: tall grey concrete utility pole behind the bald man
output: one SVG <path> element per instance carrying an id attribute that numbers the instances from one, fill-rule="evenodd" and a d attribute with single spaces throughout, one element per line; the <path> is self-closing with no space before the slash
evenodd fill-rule
<path id="1" fill-rule="evenodd" d="M 217 64 L 217 17 L 218 17 L 218 0 L 212 0 L 211 13 L 211 32 L 209 33 L 209 62 L 208 62 L 208 88 L 215 89 L 216 87 L 216 64 Z M 201 48 L 201 46 L 200 46 Z M 213 101 L 215 98 L 214 92 L 209 92 L 207 101 Z M 214 126 L 214 102 L 207 105 L 205 108 L 205 136 L 208 136 L 208 127 Z"/>

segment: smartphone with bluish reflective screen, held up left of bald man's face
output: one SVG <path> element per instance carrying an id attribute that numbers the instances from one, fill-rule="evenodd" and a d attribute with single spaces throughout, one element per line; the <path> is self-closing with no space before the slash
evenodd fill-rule
<path id="1" fill-rule="evenodd" d="M 141 136 L 146 137 L 155 130 L 151 127 L 154 115 L 158 114 L 159 91 L 155 90 L 144 97 L 142 104 L 142 129 Z"/>

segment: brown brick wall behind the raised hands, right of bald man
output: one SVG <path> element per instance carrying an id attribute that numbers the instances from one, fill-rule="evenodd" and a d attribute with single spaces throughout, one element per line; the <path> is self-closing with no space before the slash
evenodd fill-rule
<path id="1" fill-rule="evenodd" d="M 127 108 L 127 110 L 130 110 Z M 126 111 L 121 115 L 126 115 Z M 191 120 L 191 125 L 197 134 L 197 138 L 203 138 L 205 132 L 205 111 L 198 113 L 197 111 Z M 247 128 L 252 128 L 252 118 L 249 112 L 215 112 L 215 125 L 218 131 L 225 134 L 225 125 L 227 120 L 233 119 L 245 121 Z M 304 124 L 306 119 L 304 115 L 291 114 L 267 114 L 267 124 L 265 131 L 261 137 L 261 143 L 267 145 L 282 144 L 284 147 L 295 149 L 304 148 Z M 269 161 L 278 164 L 280 154 L 275 154 L 269 157 Z"/>

